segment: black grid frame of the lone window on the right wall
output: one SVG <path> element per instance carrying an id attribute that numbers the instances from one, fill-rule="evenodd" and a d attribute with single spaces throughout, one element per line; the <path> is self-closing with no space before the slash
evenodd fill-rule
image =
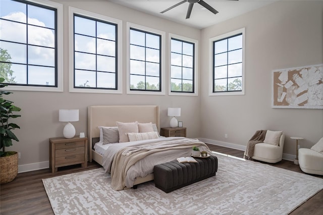
<path id="1" fill-rule="evenodd" d="M 212 65 L 213 65 L 213 67 L 212 67 L 212 71 L 213 71 L 213 73 L 212 73 L 212 74 L 213 74 L 213 76 L 212 76 L 212 77 L 213 77 L 213 79 L 212 79 L 212 83 L 213 83 L 213 84 L 212 84 L 212 92 L 213 92 L 213 93 L 242 92 L 242 91 L 243 91 L 243 86 L 241 86 L 241 87 L 242 87 L 242 89 L 241 89 L 241 90 L 228 90 L 228 85 L 229 85 L 229 83 L 228 83 L 228 79 L 229 79 L 229 78 L 238 78 L 238 77 L 243 78 L 243 73 L 241 74 L 241 76 L 228 77 L 228 68 L 229 68 L 228 66 L 229 66 L 229 65 L 240 64 L 240 63 L 242 63 L 242 64 L 243 64 L 243 59 L 242 59 L 242 62 L 229 64 L 229 63 L 228 63 L 228 59 L 229 59 L 229 58 L 228 58 L 228 54 L 229 54 L 229 52 L 230 52 L 230 51 L 235 51 L 235 50 L 239 50 L 239 49 L 241 49 L 241 50 L 243 51 L 243 48 L 244 48 L 244 47 L 243 47 L 243 45 L 242 45 L 242 47 L 241 47 L 241 48 L 237 48 L 237 49 L 233 49 L 233 50 L 230 50 L 230 51 L 229 51 L 229 50 L 228 50 L 229 43 L 227 43 L 227 51 L 220 52 L 220 53 L 217 53 L 217 54 L 215 53 L 215 51 L 216 51 L 216 50 L 215 50 L 215 43 L 216 43 L 216 42 L 219 42 L 219 41 L 222 41 L 222 40 L 228 40 L 228 39 L 230 39 L 230 38 L 233 38 L 233 37 L 236 37 L 236 36 L 240 36 L 240 35 L 242 35 L 242 36 L 243 36 L 243 33 L 238 33 L 238 34 L 235 34 L 235 35 L 232 35 L 232 36 L 228 36 L 228 37 L 225 37 L 225 38 L 222 38 L 222 39 L 214 40 L 214 41 L 212 42 L 212 45 L 213 45 L 213 47 L 212 47 L 212 49 L 213 49 L 213 52 L 212 52 L 212 56 L 213 56 L 213 60 L 212 60 L 212 61 L 213 61 L 213 64 L 212 64 Z M 227 53 L 227 64 L 225 64 L 225 65 L 221 65 L 221 66 L 227 66 L 227 77 L 226 77 L 226 78 L 217 78 L 217 79 L 216 79 L 216 78 L 215 78 L 215 76 L 216 76 L 216 74 L 215 74 L 215 68 L 216 68 L 216 65 L 215 65 L 215 64 L 216 64 L 216 62 L 215 62 L 215 58 L 214 58 L 214 57 L 215 57 L 216 55 L 221 54 L 221 53 Z M 242 54 L 242 55 L 243 55 L 243 54 Z M 220 66 L 218 66 L 218 67 L 220 67 Z M 243 72 L 243 71 L 241 71 L 241 72 Z M 214 83 L 214 82 L 215 82 L 215 80 L 220 80 L 220 79 L 226 79 L 226 80 L 227 80 L 227 90 L 225 90 L 225 91 L 224 91 L 224 90 L 223 90 L 223 91 L 216 91 L 216 90 L 215 90 L 215 83 Z"/>

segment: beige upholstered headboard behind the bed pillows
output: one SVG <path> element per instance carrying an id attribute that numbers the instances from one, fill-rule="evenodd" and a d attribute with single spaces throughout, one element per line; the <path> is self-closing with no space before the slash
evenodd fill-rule
<path id="1" fill-rule="evenodd" d="M 98 126 L 117 126 L 116 122 L 156 124 L 159 131 L 159 107 L 157 105 L 97 105 L 87 109 L 88 157 L 92 161 L 93 138 L 100 136 Z"/>

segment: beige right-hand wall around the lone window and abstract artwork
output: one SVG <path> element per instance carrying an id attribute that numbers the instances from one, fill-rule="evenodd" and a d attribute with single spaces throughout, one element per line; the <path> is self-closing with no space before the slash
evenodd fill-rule
<path id="1" fill-rule="evenodd" d="M 323 137 L 323 110 L 271 108 L 272 70 L 323 63 L 322 11 L 322 1 L 279 1 L 202 30 L 201 137 L 245 146 L 256 130 L 282 130 L 284 153 L 293 155 L 291 136 L 306 148 Z M 208 40 L 240 28 L 245 95 L 208 96 Z"/>

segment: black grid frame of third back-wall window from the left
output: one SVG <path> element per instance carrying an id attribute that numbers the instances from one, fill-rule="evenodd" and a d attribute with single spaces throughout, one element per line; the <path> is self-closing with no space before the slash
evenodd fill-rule
<path id="1" fill-rule="evenodd" d="M 144 30 L 140 30 L 140 29 L 137 29 L 137 28 L 133 28 L 133 27 L 130 27 L 129 29 L 129 32 L 131 32 L 131 30 L 134 30 L 134 31 L 139 31 L 139 32 L 142 32 L 142 33 L 145 33 L 146 34 L 151 34 L 151 35 L 155 35 L 155 36 L 158 36 L 159 37 L 159 89 L 158 90 L 152 90 L 152 89 L 147 89 L 147 82 L 146 82 L 146 77 L 156 77 L 156 76 L 149 76 L 149 75 L 146 75 L 146 65 L 145 65 L 145 75 L 139 75 L 139 74 L 131 74 L 131 67 L 129 67 L 129 89 L 130 91 L 149 91 L 149 92 L 161 92 L 161 35 L 160 34 L 157 34 L 157 33 L 153 33 L 153 32 L 149 32 L 149 31 L 144 31 Z M 129 36 L 131 38 L 131 33 L 129 33 Z M 131 39 L 130 39 L 131 40 Z M 129 47 L 131 48 L 130 45 L 136 45 L 136 46 L 139 46 L 139 47 L 144 47 L 144 48 L 147 48 L 146 46 L 146 36 L 145 36 L 145 46 L 141 46 L 141 45 L 137 45 L 137 44 L 131 44 L 129 40 Z M 151 47 L 148 47 L 148 48 L 151 48 Z M 152 48 L 152 49 L 155 49 L 155 48 Z M 155 50 L 158 50 L 158 49 L 155 49 Z M 131 50 L 129 49 L 129 53 L 131 52 Z M 130 55 L 129 55 L 130 56 Z M 134 61 L 140 61 L 140 60 L 137 60 L 137 59 L 131 59 L 129 57 L 129 61 L 131 60 L 134 60 Z M 149 62 L 149 61 L 146 61 L 146 51 L 145 51 L 145 61 L 141 61 L 141 62 Z M 155 63 L 155 62 L 149 62 L 149 63 Z M 144 76 L 145 77 L 145 89 L 132 89 L 131 88 L 131 75 L 137 75 L 137 76 Z"/>

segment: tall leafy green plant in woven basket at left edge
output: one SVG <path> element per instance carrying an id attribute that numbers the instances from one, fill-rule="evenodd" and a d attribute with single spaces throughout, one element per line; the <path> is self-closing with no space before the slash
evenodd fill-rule
<path id="1" fill-rule="evenodd" d="M 3 83 L 4 78 L 0 77 L 0 88 L 8 86 Z M 6 100 L 3 95 L 11 94 L 12 92 L 0 91 L 0 179 L 1 184 L 11 182 L 18 174 L 18 153 L 16 151 L 6 151 L 6 147 L 12 145 L 12 140 L 19 141 L 16 135 L 12 132 L 15 128 L 20 128 L 15 123 L 10 123 L 11 118 L 21 117 L 13 112 L 21 111 L 20 108 L 13 105 L 13 101 Z"/>

